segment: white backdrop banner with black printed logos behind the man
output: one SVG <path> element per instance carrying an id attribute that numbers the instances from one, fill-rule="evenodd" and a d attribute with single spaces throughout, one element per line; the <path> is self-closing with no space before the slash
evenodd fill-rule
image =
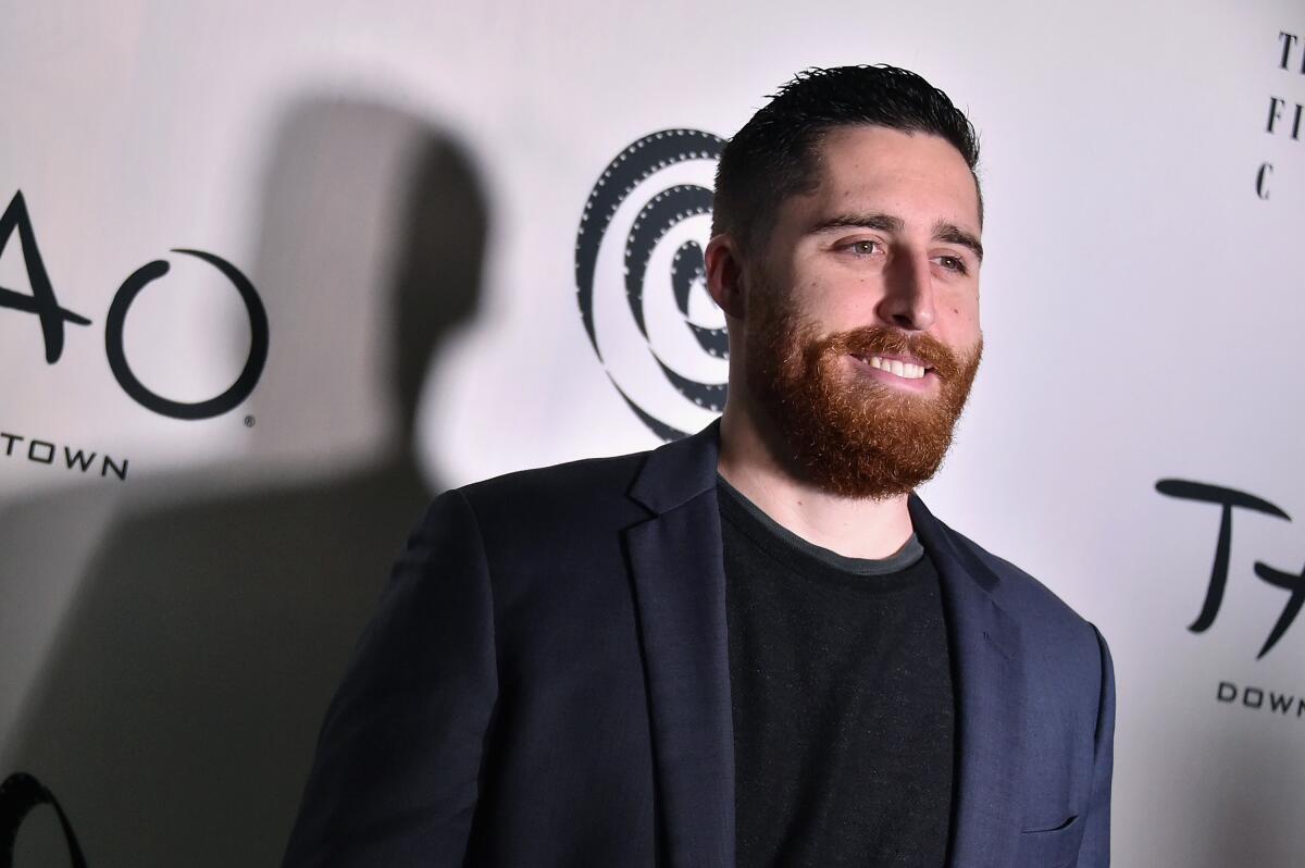
<path id="1" fill-rule="evenodd" d="M 722 141 L 881 61 L 984 146 L 985 364 L 924 496 L 1111 641 L 1117 864 L 1305 864 L 1295 0 L 40 3 L 0 56 L 20 868 L 65 826 L 274 864 L 424 503 L 710 422 Z"/>

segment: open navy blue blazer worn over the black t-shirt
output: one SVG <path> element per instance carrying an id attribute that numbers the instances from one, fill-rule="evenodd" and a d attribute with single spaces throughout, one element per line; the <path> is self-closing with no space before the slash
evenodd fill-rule
<path id="1" fill-rule="evenodd" d="M 333 700 L 284 864 L 735 864 L 718 426 L 435 500 Z M 1109 863 L 1096 629 L 934 518 L 951 868 Z"/>

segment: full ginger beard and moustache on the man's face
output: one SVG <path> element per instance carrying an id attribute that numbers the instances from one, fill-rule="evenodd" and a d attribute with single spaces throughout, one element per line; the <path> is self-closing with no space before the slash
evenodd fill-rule
<path id="1" fill-rule="evenodd" d="M 957 352 L 932 335 L 886 326 L 820 337 L 783 292 L 763 295 L 745 320 L 748 388 L 806 479 L 833 495 L 872 500 L 932 479 L 979 372 L 983 338 Z M 880 382 L 850 358 L 882 354 L 911 355 L 932 368 L 937 394 Z"/>

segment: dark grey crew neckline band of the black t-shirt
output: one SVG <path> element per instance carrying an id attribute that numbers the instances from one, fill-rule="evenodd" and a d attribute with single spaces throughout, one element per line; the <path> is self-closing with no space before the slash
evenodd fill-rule
<path id="1" fill-rule="evenodd" d="M 844 578 L 848 576 L 857 578 L 889 577 L 904 573 L 924 557 L 924 546 L 920 544 L 920 539 L 914 533 L 902 544 L 902 548 L 887 557 L 848 557 L 847 555 L 839 555 L 835 551 L 803 539 L 776 522 L 761 506 L 748 500 L 743 492 L 731 486 L 719 473 L 716 474 L 716 487 L 726 495 L 722 499 L 722 506 L 724 506 L 722 514 L 724 518 L 731 519 L 731 523 L 739 531 L 746 534 L 753 543 L 761 546 L 773 557 L 799 572 L 810 572 L 814 566 L 820 573 L 831 572 Z M 870 585 L 881 586 L 882 590 L 890 590 L 883 582 L 872 582 Z M 891 585 L 897 585 L 897 582 L 891 582 Z"/>

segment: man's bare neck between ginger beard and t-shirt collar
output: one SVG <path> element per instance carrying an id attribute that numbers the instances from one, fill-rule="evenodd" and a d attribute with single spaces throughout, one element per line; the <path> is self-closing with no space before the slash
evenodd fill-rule
<path id="1" fill-rule="evenodd" d="M 718 470 L 780 526 L 847 557 L 889 557 L 911 538 L 907 495 L 859 500 L 821 491 L 780 458 L 780 437 L 769 433 L 756 414 L 727 403 Z"/>

